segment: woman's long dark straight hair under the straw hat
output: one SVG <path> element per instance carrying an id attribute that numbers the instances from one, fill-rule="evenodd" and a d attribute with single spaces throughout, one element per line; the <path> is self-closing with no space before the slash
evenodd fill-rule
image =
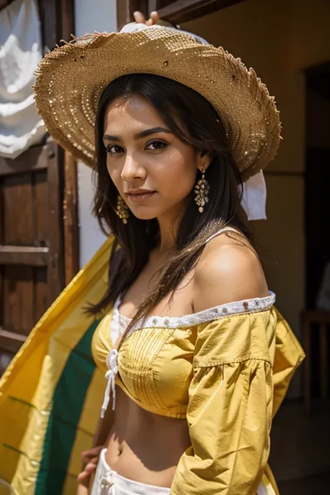
<path id="1" fill-rule="evenodd" d="M 93 306 L 93 314 L 107 308 L 125 292 L 148 262 L 150 251 L 157 246 L 157 219 L 139 220 L 130 215 L 126 224 L 116 214 L 118 190 L 107 171 L 107 155 L 102 142 L 104 112 L 117 98 L 139 94 L 157 110 L 164 123 L 183 143 L 196 150 L 212 153 L 205 171 L 210 184 L 209 203 L 203 214 L 198 212 L 191 191 L 175 239 L 177 254 L 165 267 L 157 288 L 143 301 L 134 321 L 146 317 L 167 294 L 173 292 L 185 273 L 201 256 L 207 237 L 221 226 L 230 224 L 249 237 L 246 217 L 240 206 L 242 180 L 228 145 L 221 120 L 212 105 L 196 91 L 172 79 L 152 74 L 129 74 L 111 82 L 104 90 L 97 108 L 95 125 L 97 189 L 94 213 L 104 233 L 113 233 L 116 240 L 111 251 L 121 247 L 115 270 L 111 269 L 109 287 L 102 300 Z M 179 125 L 187 129 L 187 134 Z M 200 172 L 197 172 L 196 180 Z M 117 255 L 118 253 L 116 253 Z"/>

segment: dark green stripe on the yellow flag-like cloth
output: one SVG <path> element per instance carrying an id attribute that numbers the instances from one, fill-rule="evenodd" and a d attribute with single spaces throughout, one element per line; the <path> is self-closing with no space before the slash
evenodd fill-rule
<path id="1" fill-rule="evenodd" d="M 61 495 L 63 491 L 77 425 L 95 371 L 91 340 L 98 324 L 93 322 L 72 349 L 56 385 L 35 495 Z"/>

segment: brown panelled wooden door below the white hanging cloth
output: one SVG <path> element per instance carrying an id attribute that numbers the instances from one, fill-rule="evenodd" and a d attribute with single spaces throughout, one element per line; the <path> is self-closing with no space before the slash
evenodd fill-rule
<path id="1" fill-rule="evenodd" d="M 52 141 L 0 157 L 0 368 L 64 286 L 63 173 Z"/>

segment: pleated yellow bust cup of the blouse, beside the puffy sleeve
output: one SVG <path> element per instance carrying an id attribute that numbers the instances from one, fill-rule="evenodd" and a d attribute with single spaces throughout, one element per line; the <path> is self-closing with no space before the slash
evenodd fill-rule
<path id="1" fill-rule="evenodd" d="M 134 331 L 120 347 L 117 384 L 144 409 L 184 417 L 195 341 L 189 328 Z"/>

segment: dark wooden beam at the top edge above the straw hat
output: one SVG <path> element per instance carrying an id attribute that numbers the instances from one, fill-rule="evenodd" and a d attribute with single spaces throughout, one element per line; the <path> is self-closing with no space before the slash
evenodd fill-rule
<path id="1" fill-rule="evenodd" d="M 187 22 L 246 0 L 177 0 L 158 10 L 162 19 L 173 24 Z"/>

